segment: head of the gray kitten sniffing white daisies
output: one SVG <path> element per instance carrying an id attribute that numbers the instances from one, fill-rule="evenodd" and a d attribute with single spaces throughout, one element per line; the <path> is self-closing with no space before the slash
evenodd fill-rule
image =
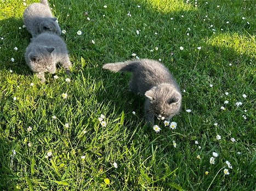
<path id="1" fill-rule="evenodd" d="M 145 96 L 149 99 L 150 109 L 157 117 L 170 120 L 180 111 L 181 94 L 169 84 L 152 87 Z"/>

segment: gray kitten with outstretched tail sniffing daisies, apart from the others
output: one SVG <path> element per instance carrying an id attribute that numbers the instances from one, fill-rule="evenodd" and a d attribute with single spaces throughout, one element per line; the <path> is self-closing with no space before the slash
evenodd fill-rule
<path id="1" fill-rule="evenodd" d="M 151 59 L 109 63 L 103 66 L 111 71 L 131 71 L 130 90 L 145 95 L 146 122 L 154 124 L 154 117 L 170 120 L 178 114 L 181 93 L 177 82 L 163 64 Z"/>

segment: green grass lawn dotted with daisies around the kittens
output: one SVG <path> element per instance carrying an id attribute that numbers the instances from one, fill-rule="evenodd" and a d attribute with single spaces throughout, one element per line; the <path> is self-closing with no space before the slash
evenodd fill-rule
<path id="1" fill-rule="evenodd" d="M 31 36 L 22 28 L 23 1 L 0 2 L 0 190 L 256 190 L 255 2 L 49 3 L 66 30 L 71 82 L 61 67 L 59 79 L 48 74 L 47 83 L 39 82 L 24 59 Z M 157 134 L 146 127 L 144 98 L 128 91 L 130 74 L 101 69 L 132 53 L 161 58 L 185 89 L 182 110 L 172 119 L 177 129 L 159 122 Z M 219 156 L 211 165 L 212 152 Z M 226 160 L 233 168 L 224 176 Z"/>

